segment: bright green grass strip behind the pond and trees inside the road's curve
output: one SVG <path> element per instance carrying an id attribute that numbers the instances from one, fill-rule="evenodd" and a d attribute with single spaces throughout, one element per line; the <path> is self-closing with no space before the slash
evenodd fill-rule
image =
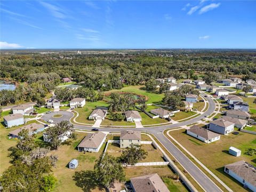
<path id="1" fill-rule="evenodd" d="M 147 103 L 160 102 L 164 97 L 164 94 L 158 94 L 157 91 L 155 92 L 146 91 L 144 85 L 126 86 L 120 90 L 110 90 L 110 91 L 106 91 L 105 93 L 109 93 L 109 92 L 132 92 L 132 93 L 142 94 L 148 98 Z"/>

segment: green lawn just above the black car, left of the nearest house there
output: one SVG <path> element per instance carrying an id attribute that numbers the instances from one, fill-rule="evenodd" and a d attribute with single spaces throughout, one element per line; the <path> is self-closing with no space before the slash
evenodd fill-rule
<path id="1" fill-rule="evenodd" d="M 74 110 L 79 113 L 76 121 L 79 123 L 94 124 L 94 121 L 88 119 L 89 115 L 92 113 L 93 109 L 100 106 L 108 106 L 105 101 L 88 102 L 86 101 L 85 106 L 82 108 L 75 108 Z"/>

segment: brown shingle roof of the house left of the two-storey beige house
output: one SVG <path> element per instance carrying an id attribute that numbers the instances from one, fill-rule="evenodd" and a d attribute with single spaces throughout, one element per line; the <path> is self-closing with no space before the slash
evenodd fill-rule
<path id="1" fill-rule="evenodd" d="M 105 136 L 106 134 L 101 131 L 97 133 L 89 133 L 77 147 L 98 148 Z"/>

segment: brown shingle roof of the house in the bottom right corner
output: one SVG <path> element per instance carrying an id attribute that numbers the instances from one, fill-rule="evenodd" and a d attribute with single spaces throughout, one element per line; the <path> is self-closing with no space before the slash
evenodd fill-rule
<path id="1" fill-rule="evenodd" d="M 225 165 L 229 170 L 236 173 L 239 177 L 245 181 L 251 183 L 253 186 L 256 186 L 256 167 L 245 162 L 239 161 L 236 163 L 231 163 Z"/>

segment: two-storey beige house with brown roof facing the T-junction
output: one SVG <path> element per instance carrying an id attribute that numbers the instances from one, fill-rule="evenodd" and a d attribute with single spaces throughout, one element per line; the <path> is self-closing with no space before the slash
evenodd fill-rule
<path id="1" fill-rule="evenodd" d="M 126 148 L 132 145 L 140 145 L 141 135 L 140 131 L 121 131 L 120 147 Z"/>

